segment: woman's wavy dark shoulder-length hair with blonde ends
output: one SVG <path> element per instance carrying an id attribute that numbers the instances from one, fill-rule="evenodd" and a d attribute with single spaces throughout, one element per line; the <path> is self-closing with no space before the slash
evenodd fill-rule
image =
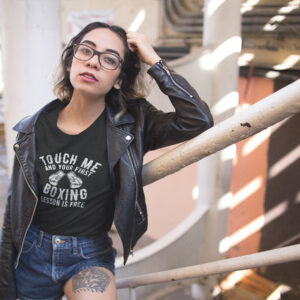
<path id="1" fill-rule="evenodd" d="M 73 45 L 82 41 L 83 37 L 91 30 L 96 28 L 107 28 L 116 33 L 124 44 L 125 56 L 121 67 L 119 79 L 121 79 L 120 89 L 114 87 L 106 95 L 106 101 L 115 106 L 119 106 L 119 112 L 116 117 L 122 115 L 127 108 L 126 102 L 130 99 L 145 97 L 147 89 L 141 75 L 142 63 L 137 55 L 129 50 L 127 45 L 126 31 L 116 25 L 109 25 L 102 22 L 93 22 L 85 26 L 76 36 L 74 36 L 64 48 L 59 69 L 56 74 L 53 92 L 60 100 L 70 101 L 73 94 L 73 86 L 70 82 L 70 73 L 67 68 L 71 65 L 73 59 Z"/>

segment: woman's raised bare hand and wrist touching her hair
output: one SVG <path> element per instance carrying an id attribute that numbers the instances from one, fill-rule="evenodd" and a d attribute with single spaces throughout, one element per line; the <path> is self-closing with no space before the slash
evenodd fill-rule
<path id="1" fill-rule="evenodd" d="M 130 51 L 135 52 L 140 60 L 149 66 L 154 65 L 161 59 L 148 39 L 141 33 L 127 32 L 127 43 Z"/>

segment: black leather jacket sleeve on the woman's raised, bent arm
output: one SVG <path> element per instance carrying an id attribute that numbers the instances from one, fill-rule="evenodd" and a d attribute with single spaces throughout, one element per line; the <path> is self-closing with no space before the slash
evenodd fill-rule
<path id="1" fill-rule="evenodd" d="M 148 73 L 155 79 L 160 90 L 169 97 L 175 112 L 164 113 L 147 102 L 145 152 L 191 139 L 213 126 L 207 104 L 163 60 L 154 64 Z"/>

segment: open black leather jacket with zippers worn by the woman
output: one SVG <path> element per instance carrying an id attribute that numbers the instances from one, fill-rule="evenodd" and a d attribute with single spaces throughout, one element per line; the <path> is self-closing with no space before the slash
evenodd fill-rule
<path id="1" fill-rule="evenodd" d="M 167 94 L 176 112 L 163 113 L 145 99 L 128 101 L 127 111 L 117 121 L 117 111 L 107 103 L 107 149 L 114 187 L 114 222 L 124 249 L 124 264 L 137 240 L 147 229 L 147 211 L 142 184 L 143 155 L 148 150 L 190 139 L 213 125 L 205 102 L 185 79 L 156 63 L 148 73 Z M 14 144 L 15 161 L 8 191 L 0 247 L 0 299 L 16 299 L 14 268 L 18 265 L 24 238 L 37 205 L 35 123 L 51 110 L 54 100 L 34 115 L 21 120 Z"/>

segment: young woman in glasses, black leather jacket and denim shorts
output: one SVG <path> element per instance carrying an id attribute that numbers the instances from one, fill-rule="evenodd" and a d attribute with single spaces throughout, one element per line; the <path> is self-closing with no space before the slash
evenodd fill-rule
<path id="1" fill-rule="evenodd" d="M 141 63 L 173 113 L 139 95 Z M 0 299 L 116 299 L 112 222 L 124 264 L 146 231 L 148 150 L 213 125 L 207 105 L 147 39 L 91 23 L 63 51 L 58 99 L 21 120 L 0 249 Z"/>

